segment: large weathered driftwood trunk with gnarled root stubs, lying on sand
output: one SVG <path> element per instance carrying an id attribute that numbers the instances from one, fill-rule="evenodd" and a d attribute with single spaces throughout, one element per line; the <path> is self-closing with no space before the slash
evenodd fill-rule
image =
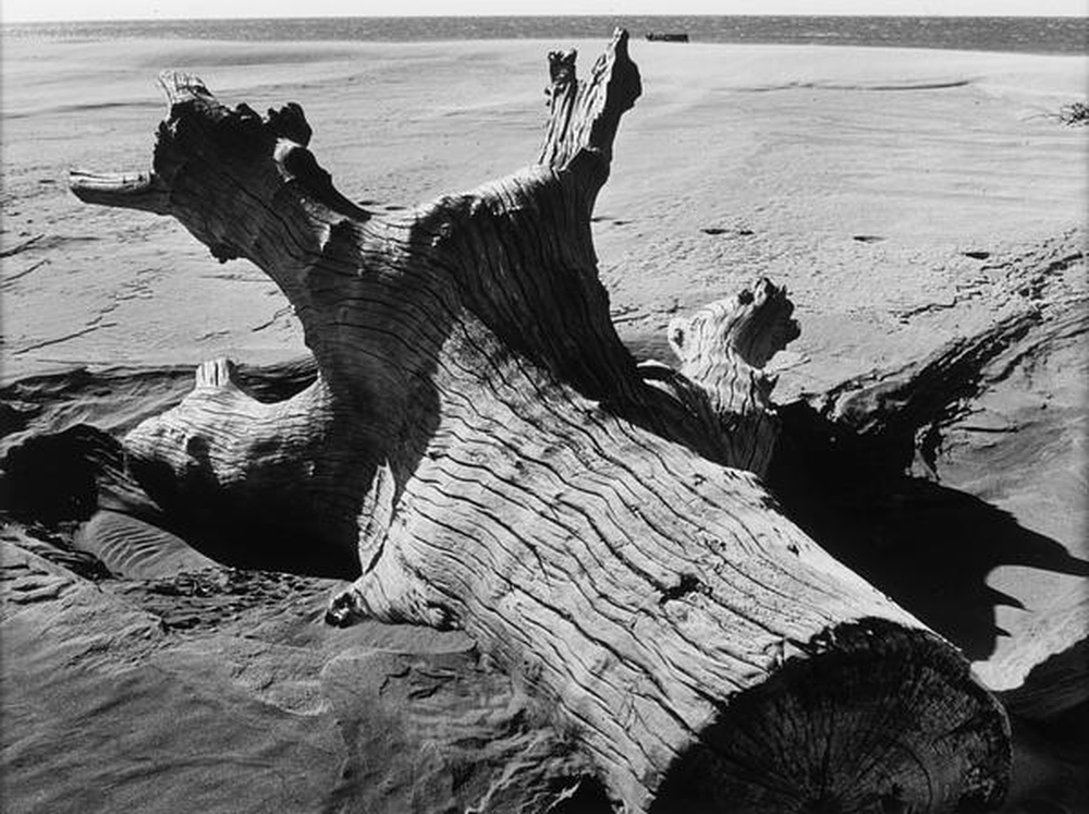
<path id="1" fill-rule="evenodd" d="M 590 216 L 640 80 L 623 32 L 587 81 L 574 63 L 550 56 L 530 167 L 382 216 L 333 187 L 298 106 L 232 110 L 164 74 L 151 171 L 74 173 L 73 191 L 255 263 L 319 375 L 266 403 L 203 365 L 125 438 L 133 471 L 168 512 L 295 530 L 301 557 L 357 552 L 332 621 L 464 629 L 620 810 L 996 805 L 1008 725 L 965 659 L 737 469 L 774 442 L 752 416 L 759 368 L 796 331 L 784 293 L 712 308 L 707 340 L 675 326 L 678 373 L 617 338 Z"/>

